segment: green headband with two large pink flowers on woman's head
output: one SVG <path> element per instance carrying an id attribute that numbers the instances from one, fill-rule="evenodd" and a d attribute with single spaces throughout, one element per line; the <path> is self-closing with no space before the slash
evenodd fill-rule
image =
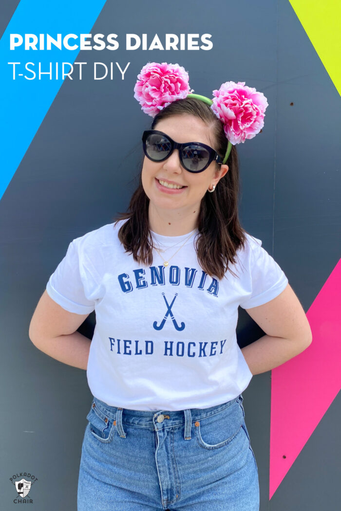
<path id="1" fill-rule="evenodd" d="M 223 83 L 219 89 L 213 90 L 213 100 L 192 92 L 194 89 L 190 89 L 185 68 L 167 62 L 148 62 L 141 69 L 134 86 L 134 98 L 140 103 L 141 110 L 151 117 L 179 99 L 196 98 L 207 103 L 222 121 L 229 141 L 223 164 L 233 145 L 244 143 L 246 138 L 254 138 L 264 126 L 267 99 L 245 82 Z"/>

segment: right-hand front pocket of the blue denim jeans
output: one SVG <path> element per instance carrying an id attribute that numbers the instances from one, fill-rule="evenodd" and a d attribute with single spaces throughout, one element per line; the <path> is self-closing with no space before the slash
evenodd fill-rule
<path id="1" fill-rule="evenodd" d="M 219 449 L 239 433 L 243 424 L 243 413 L 238 401 L 222 411 L 194 423 L 197 442 L 203 449 Z"/>

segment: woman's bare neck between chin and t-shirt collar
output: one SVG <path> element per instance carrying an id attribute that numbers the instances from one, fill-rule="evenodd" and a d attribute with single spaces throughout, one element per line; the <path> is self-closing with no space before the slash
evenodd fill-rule
<path id="1" fill-rule="evenodd" d="M 199 210 L 191 208 L 191 213 L 172 210 L 157 210 L 149 202 L 149 228 L 162 236 L 183 236 L 191 233 L 198 226 Z M 197 211 L 195 211 L 197 210 Z"/>

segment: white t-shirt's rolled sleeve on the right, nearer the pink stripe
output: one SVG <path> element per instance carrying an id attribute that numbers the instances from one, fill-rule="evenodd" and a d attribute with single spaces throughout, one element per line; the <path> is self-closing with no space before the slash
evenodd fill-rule
<path id="1" fill-rule="evenodd" d="M 271 255 L 261 246 L 261 240 L 253 238 L 250 248 L 249 291 L 240 307 L 251 309 L 276 298 L 288 284 L 288 279 Z"/>

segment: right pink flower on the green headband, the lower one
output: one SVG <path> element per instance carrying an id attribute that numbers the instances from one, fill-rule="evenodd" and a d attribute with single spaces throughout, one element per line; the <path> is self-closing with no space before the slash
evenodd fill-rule
<path id="1" fill-rule="evenodd" d="M 245 82 L 225 82 L 213 91 L 211 109 L 224 123 L 224 132 L 231 144 L 254 138 L 264 126 L 267 100 L 262 92 Z"/>

